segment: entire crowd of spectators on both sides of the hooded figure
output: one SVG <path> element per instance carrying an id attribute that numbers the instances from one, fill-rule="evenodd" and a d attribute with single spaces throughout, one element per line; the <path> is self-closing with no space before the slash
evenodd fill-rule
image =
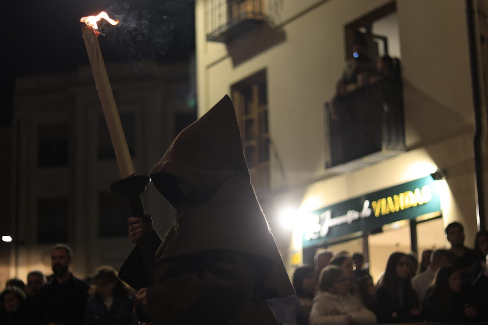
<path id="1" fill-rule="evenodd" d="M 449 249 L 392 253 L 375 285 L 361 253 L 317 252 L 314 266 L 294 270 L 296 294 L 267 301 L 279 324 L 368 325 L 417 322 L 488 321 L 488 233 L 464 245 L 464 228 L 446 228 Z M 53 274 L 11 279 L 0 294 L 0 325 L 129 325 L 134 291 L 111 266 L 97 268 L 86 281 L 70 271 L 69 246 L 51 249 Z M 138 310 L 144 319 L 144 311 Z"/>

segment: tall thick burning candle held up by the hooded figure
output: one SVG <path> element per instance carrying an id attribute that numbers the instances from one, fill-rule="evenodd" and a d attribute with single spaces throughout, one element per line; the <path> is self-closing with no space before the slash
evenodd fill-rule
<path id="1" fill-rule="evenodd" d="M 84 21 L 87 24 L 90 22 L 91 25 L 83 25 L 81 27 L 81 32 L 83 35 L 83 40 L 85 41 L 86 51 L 88 52 L 88 58 L 90 59 L 93 77 L 95 78 L 95 85 L 97 86 L 98 90 L 98 96 L 102 102 L 103 115 L 105 116 L 105 121 L 107 122 L 110 138 L 112 139 L 112 145 L 114 146 L 115 157 L 117 159 L 117 163 L 119 164 L 119 170 L 122 178 L 126 178 L 135 175 L 136 172 L 130 157 L 129 148 L 122 129 L 121 119 L 119 117 L 117 105 L 115 104 L 114 95 L 112 93 L 112 87 L 108 81 L 105 63 L 103 62 L 102 52 L 100 51 L 100 45 L 97 40 L 98 32 L 95 29 L 97 28 L 96 21 L 99 20 L 97 19 L 98 17 L 105 19 L 108 18 L 105 13 L 101 13 L 96 17 L 83 17 L 81 21 Z M 117 23 L 117 21 L 114 22 Z"/>

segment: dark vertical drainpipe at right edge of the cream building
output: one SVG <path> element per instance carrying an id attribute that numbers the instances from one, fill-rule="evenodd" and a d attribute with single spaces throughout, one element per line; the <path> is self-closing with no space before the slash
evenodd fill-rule
<path id="1" fill-rule="evenodd" d="M 478 50 L 474 19 L 474 0 L 466 0 L 466 20 L 468 23 L 469 61 L 471 68 L 471 88 L 473 92 L 475 132 L 473 138 L 474 149 L 474 195 L 476 200 L 476 223 L 478 231 L 485 228 L 485 202 L 483 191 L 483 161 L 482 161 L 482 134 L 481 122 L 480 82 L 478 80 Z"/>

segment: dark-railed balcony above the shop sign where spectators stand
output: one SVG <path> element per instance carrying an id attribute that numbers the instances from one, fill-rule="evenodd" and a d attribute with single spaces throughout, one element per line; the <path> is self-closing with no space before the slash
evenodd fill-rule
<path id="1" fill-rule="evenodd" d="M 325 167 L 345 172 L 405 152 L 403 86 L 387 78 L 325 103 Z"/>

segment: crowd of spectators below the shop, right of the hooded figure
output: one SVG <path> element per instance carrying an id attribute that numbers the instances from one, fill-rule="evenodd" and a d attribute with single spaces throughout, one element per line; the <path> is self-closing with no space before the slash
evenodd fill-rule
<path id="1" fill-rule="evenodd" d="M 474 249 L 464 245 L 462 224 L 447 225 L 446 235 L 451 247 L 426 250 L 420 261 L 411 252 L 392 253 L 376 285 L 364 268 L 362 254 L 319 250 L 315 267 L 303 265 L 295 269 L 296 301 L 287 313 L 275 312 L 278 322 L 297 325 L 487 322 L 488 233 L 481 231 L 476 235 Z M 270 305 L 273 311 L 277 305 L 280 304 Z"/>

